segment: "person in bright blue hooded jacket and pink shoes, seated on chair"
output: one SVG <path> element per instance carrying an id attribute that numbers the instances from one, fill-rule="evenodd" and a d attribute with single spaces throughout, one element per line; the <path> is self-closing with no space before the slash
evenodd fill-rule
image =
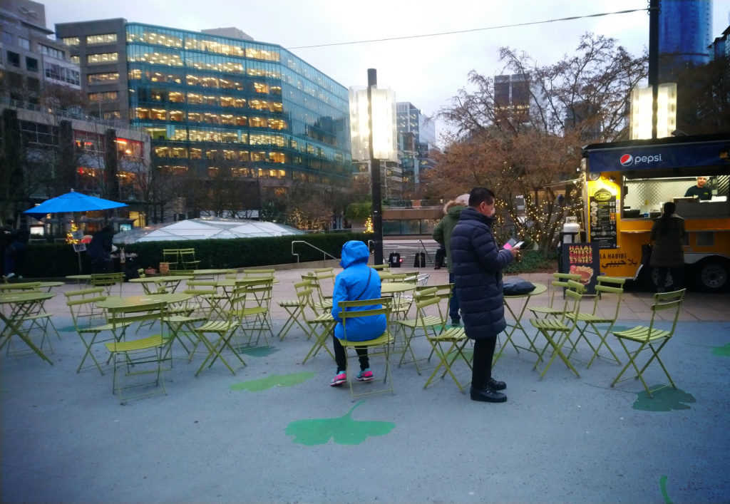
<path id="1" fill-rule="evenodd" d="M 334 358 L 337 361 L 337 375 L 332 378 L 331 386 L 339 386 L 347 381 L 345 375 L 345 348 L 339 343 L 345 332 L 342 327 L 342 318 L 339 313 L 341 301 L 356 301 L 358 299 L 380 298 L 380 276 L 377 271 L 367 265 L 370 256 L 365 243 L 350 240 L 342 245 L 342 260 L 339 265 L 345 268 L 334 280 L 334 293 L 332 294 L 332 316 L 337 321 L 332 337 L 334 344 Z M 348 310 L 377 310 L 381 305 L 358 306 Z M 350 318 L 347 322 L 348 341 L 374 340 L 385 332 L 385 315 L 373 315 L 361 318 Z M 358 381 L 371 381 L 373 379 L 370 363 L 367 357 L 367 348 L 355 348 L 360 358 L 360 373 Z"/>

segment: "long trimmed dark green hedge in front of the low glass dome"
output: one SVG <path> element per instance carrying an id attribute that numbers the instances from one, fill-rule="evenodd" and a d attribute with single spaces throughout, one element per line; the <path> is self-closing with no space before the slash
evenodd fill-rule
<path id="1" fill-rule="evenodd" d="M 291 242 L 305 240 L 339 258 L 342 244 L 347 240 L 367 242 L 364 233 L 304 234 L 301 236 L 237 238 L 232 240 L 185 240 L 179 242 L 145 242 L 126 245 L 126 252 L 137 253 L 138 267 L 159 266 L 164 248 L 194 248 L 199 269 L 254 267 L 265 264 L 288 264 L 296 262 L 291 255 Z M 294 246 L 299 261 L 318 261 L 323 254 L 303 243 Z M 91 272 L 91 265 L 85 253 L 81 253 L 82 272 Z M 41 243 L 28 245 L 26 259 L 20 268 L 25 277 L 51 278 L 76 275 L 79 264 L 71 245 L 63 243 Z"/>

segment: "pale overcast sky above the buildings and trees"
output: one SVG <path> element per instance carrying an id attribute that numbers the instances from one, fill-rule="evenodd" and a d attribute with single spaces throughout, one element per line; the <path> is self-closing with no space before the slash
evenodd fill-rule
<path id="1" fill-rule="evenodd" d="M 43 1 L 43 0 L 40 0 Z M 199 31 L 236 26 L 262 42 L 283 47 L 431 34 L 469 28 L 645 8 L 648 0 L 45 0 L 46 23 L 125 18 Z M 356 9 L 367 4 L 369 8 Z M 714 0 L 712 37 L 728 26 L 730 0 Z M 501 73 L 499 47 L 507 45 L 549 64 L 572 53 L 593 31 L 631 53 L 648 46 L 646 12 L 538 26 L 500 28 L 442 37 L 293 50 L 342 85 L 366 85 L 377 69 L 379 87 L 396 91 L 427 115 L 448 104 L 470 70 Z M 437 123 L 437 128 L 439 124 Z"/>

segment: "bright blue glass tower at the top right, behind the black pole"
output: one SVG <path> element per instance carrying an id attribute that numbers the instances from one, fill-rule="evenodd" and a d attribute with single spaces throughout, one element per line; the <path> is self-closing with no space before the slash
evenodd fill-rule
<path id="1" fill-rule="evenodd" d="M 659 82 L 675 82 L 688 66 L 710 61 L 712 0 L 661 0 Z"/>

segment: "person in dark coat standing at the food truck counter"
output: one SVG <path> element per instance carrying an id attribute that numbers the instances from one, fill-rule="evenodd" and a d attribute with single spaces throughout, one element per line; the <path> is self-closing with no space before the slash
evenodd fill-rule
<path id="1" fill-rule="evenodd" d="M 650 267 L 657 270 L 657 292 L 664 292 L 666 275 L 672 272 L 672 290 L 682 289 L 684 284 L 684 219 L 675 213 L 673 202 L 664 203 L 664 212 L 651 227 L 654 247 L 649 259 Z"/>

